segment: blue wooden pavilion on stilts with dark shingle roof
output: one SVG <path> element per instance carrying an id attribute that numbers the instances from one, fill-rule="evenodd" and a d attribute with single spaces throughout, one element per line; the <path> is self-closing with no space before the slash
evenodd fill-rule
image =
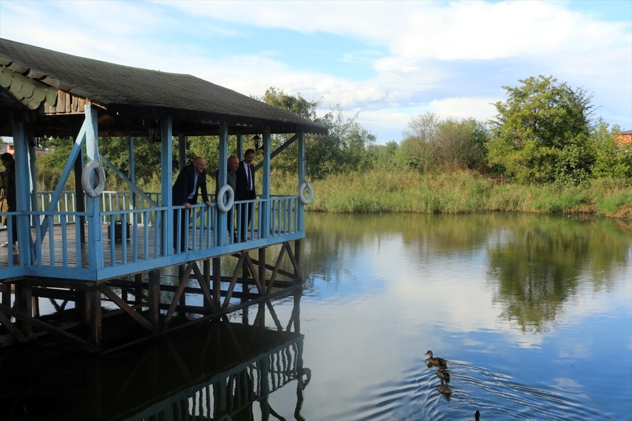
<path id="1" fill-rule="evenodd" d="M 17 209 L 0 213 L 6 225 L 0 241 L 0 346 L 54 334 L 98 352 L 106 301 L 143 327 L 145 336 L 173 329 L 174 315 L 217 317 L 301 284 L 300 246 L 305 237 L 305 133 L 326 128 L 282 109 L 191 75 L 144 70 L 81 58 L 0 39 L 0 135 L 13 137 Z M 293 133 L 270 150 L 270 135 Z M 243 156 L 243 136 L 261 135 L 260 195 L 234 202 L 233 212 L 252 209 L 248 240 L 214 201 L 194 205 L 188 229 L 174 221 L 173 142 L 179 168 L 185 166 L 186 137 L 219 136 L 219 180 L 226 184 L 229 135 Z M 35 143 L 42 137 L 72 138 L 73 148 L 53 192 L 37 191 Z M 100 137 L 128 138 L 127 174 L 99 152 Z M 152 137 L 161 157 L 161 191 L 143 192 L 135 183 L 134 138 Z M 272 195 L 270 161 L 298 143 L 296 195 Z M 124 180 L 129 190 L 101 192 L 102 166 Z M 75 190 L 64 185 L 74 172 Z M 208 178 L 208 177 L 207 177 Z M 210 185 L 212 185 L 212 180 Z M 218 198 L 221 207 L 230 200 Z M 179 212 L 175 213 L 176 215 Z M 185 213 L 186 215 L 186 213 Z M 14 223 L 16 229 L 13 229 Z M 121 241 L 116 226 L 123 228 Z M 126 238 L 126 229 L 130 235 Z M 174 251 L 184 238 L 189 250 Z M 183 232 L 181 232 L 183 231 Z M 238 238 L 246 233 L 238 233 Z M 15 246 L 11 246 L 13 240 Z M 177 240 L 176 240 L 177 241 Z M 266 250 L 280 251 L 274 264 Z M 257 250 L 257 258 L 251 251 Z M 233 276 L 222 278 L 220 258 L 234 257 Z M 291 264 L 284 271 L 282 262 Z M 200 268 L 201 262 L 202 268 Z M 161 275 L 179 267 L 176 283 Z M 284 276 L 286 279 L 280 279 Z M 191 283 L 190 280 L 193 280 Z M 195 283 L 197 282 L 197 286 Z M 236 286 L 241 286 L 241 292 Z M 169 291 L 169 298 L 161 292 Z M 187 303 L 197 294 L 202 305 Z M 41 317 L 38 298 L 74 303 L 64 320 Z M 238 302 L 236 302 L 238 300 Z M 199 316 L 198 316 L 199 317 Z M 183 322 L 183 320 L 180 320 Z"/>

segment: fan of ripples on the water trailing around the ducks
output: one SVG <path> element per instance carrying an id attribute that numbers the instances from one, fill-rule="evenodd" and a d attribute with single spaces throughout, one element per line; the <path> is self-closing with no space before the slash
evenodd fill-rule
<path id="1" fill-rule="evenodd" d="M 561 420 L 614 419 L 598 408 L 586 407 L 585 399 L 559 386 L 542 388 L 515 382 L 465 362 L 449 362 L 450 387 L 447 398 L 439 393 L 441 380 L 436 368 L 425 362 L 402 373 L 401 381 L 365 386 L 366 400 L 350 405 L 335 419 L 353 420 Z"/>

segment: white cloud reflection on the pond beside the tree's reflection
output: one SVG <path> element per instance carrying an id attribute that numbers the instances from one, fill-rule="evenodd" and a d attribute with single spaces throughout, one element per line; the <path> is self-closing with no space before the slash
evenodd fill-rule
<path id="1" fill-rule="evenodd" d="M 365 262 L 369 262 L 372 276 L 386 277 L 384 293 L 398 305 L 392 310 L 392 317 L 429 324 L 441 324 L 447 331 L 463 333 L 490 329 L 501 331 L 508 336 L 507 341 L 523 348 L 537 348 L 542 345 L 545 327 L 541 332 L 516 329 L 513 320 L 500 317 L 504 309 L 492 300 L 494 284 L 489 284 L 487 245 L 468 253 L 432 253 L 427 243 L 404 241 L 403 235 L 389 233 L 379 237 L 365 235 L 363 238 Z M 506 236 L 499 236 L 492 242 L 504 242 Z M 423 253 L 420 254 L 420 250 Z M 432 254 L 432 258 L 430 258 Z M 431 264 L 432 262 L 432 264 Z M 364 268 L 366 271 L 367 268 Z M 614 273 L 614 279 L 625 279 L 624 272 L 632 272 L 631 267 Z M 619 276 L 621 275 L 621 276 Z M 570 295 L 556 313 L 555 320 L 580 324 L 583 317 L 604 314 L 612 308 L 613 294 L 607 288 L 585 293 L 593 288 L 592 274 L 580 276 L 581 291 Z M 623 291 L 616 288 L 614 297 L 622 308 L 629 308 L 632 300 L 632 283 L 626 283 Z M 386 300 L 385 300 L 386 301 Z M 571 305 L 572 304 L 572 305 Z M 577 319 L 579 318 L 579 319 Z M 553 325 L 553 326 L 554 326 Z"/>

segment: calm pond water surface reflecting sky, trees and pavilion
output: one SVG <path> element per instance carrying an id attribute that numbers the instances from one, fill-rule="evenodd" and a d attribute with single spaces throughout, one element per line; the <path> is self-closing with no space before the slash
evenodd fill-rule
<path id="1" fill-rule="evenodd" d="M 302 296 L 101 358 L 0 350 L 10 373 L 0 411 L 60 420 L 473 420 L 477 409 L 483 420 L 632 419 L 629 226 L 308 214 L 306 228 Z M 449 399 L 427 350 L 448 360 Z M 222 372 L 241 384 L 220 405 L 224 415 L 212 409 L 225 394 L 214 383 Z M 257 389 L 260 372 L 271 373 L 265 393 L 240 403 L 236 390 Z"/>

